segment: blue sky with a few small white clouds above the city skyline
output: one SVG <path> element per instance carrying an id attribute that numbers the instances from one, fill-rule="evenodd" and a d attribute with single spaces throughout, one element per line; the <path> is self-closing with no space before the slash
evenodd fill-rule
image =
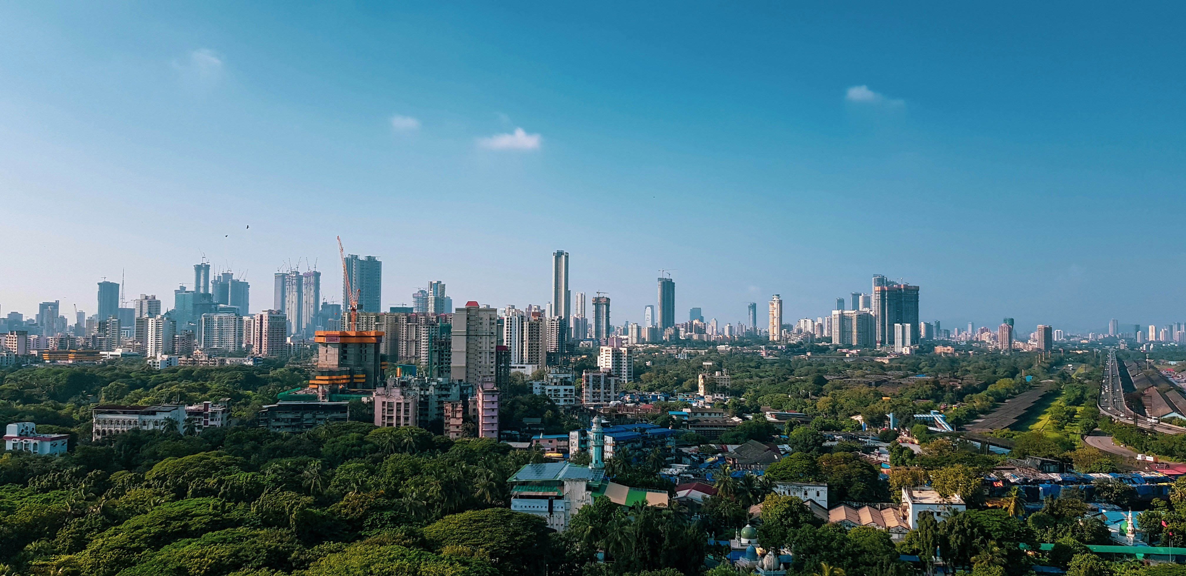
<path id="1" fill-rule="evenodd" d="M 873 274 L 945 326 L 1186 320 L 1180 5 L 421 4 L 0 5 L 0 313 L 202 254 L 332 296 L 340 235 L 384 306 L 543 305 L 563 249 L 616 324 L 661 268 L 721 322 Z"/>

